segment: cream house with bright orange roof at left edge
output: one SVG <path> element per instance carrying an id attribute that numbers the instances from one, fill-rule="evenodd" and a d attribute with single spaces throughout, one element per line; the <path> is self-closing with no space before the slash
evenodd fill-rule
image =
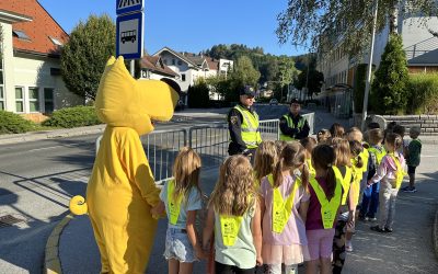
<path id="1" fill-rule="evenodd" d="M 1 0 L 0 31 L 0 110 L 42 121 L 84 103 L 60 75 L 60 48 L 69 36 L 37 0 Z"/>

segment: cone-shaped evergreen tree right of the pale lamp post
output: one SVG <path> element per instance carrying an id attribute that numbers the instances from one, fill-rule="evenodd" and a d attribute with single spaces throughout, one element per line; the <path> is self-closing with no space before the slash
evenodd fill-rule
<path id="1" fill-rule="evenodd" d="M 383 114 L 399 114 L 406 110 L 408 75 L 402 37 L 391 34 L 371 90 L 373 109 Z"/>

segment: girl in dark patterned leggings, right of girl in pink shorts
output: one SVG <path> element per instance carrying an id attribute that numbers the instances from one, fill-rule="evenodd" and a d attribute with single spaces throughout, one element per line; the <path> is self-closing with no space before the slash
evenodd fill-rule
<path id="1" fill-rule="evenodd" d="M 356 203 L 353 201 L 354 195 L 350 192 L 353 171 L 349 142 L 346 139 L 333 138 L 332 144 L 336 156 L 334 168 L 336 180 L 339 180 L 343 186 L 339 215 L 333 239 L 333 273 L 341 273 L 344 267 L 345 251 L 353 251 L 350 243 L 345 246 L 345 239 L 347 230 L 351 231 L 355 227 Z"/>

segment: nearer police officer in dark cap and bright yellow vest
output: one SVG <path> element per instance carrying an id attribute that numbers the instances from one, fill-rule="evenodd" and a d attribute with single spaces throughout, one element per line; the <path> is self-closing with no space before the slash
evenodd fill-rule
<path id="1" fill-rule="evenodd" d="M 244 155 L 250 158 L 255 156 L 255 149 L 262 142 L 258 128 L 258 115 L 252 107 L 254 104 L 254 90 L 246 85 L 240 90 L 240 103 L 229 112 L 228 128 L 231 142 L 228 152 Z"/>

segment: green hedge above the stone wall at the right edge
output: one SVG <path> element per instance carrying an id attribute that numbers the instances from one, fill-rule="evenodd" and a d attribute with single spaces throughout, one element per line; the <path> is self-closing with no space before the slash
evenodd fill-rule
<path id="1" fill-rule="evenodd" d="M 438 114 L 438 73 L 410 75 L 410 114 Z"/>

